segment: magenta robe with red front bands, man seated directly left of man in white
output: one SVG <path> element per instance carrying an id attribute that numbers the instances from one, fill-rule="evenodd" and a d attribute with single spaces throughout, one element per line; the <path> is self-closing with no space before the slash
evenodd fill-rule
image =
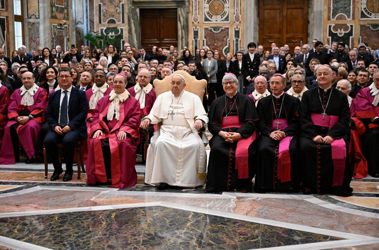
<path id="1" fill-rule="evenodd" d="M 137 182 L 135 151 L 139 143 L 139 119 L 141 112 L 139 102 L 134 97 L 129 96 L 120 105 L 119 121 L 113 129 L 109 131 L 109 127 L 106 123 L 106 115 L 110 104 L 109 95 L 106 95 L 101 98 L 96 105 L 90 137 L 92 137 L 94 132 L 98 129 L 103 131 L 103 135 L 95 139 L 89 139 L 86 165 L 87 184 L 107 182 L 101 139 L 109 138 L 112 174 L 112 184 L 110 187 L 124 189 L 134 186 Z M 115 119 L 116 118 L 113 118 L 113 121 L 107 121 L 108 124 L 111 122 L 115 123 Z M 120 131 L 124 131 L 130 136 L 128 135 L 125 140 L 118 140 L 116 137 Z"/>

